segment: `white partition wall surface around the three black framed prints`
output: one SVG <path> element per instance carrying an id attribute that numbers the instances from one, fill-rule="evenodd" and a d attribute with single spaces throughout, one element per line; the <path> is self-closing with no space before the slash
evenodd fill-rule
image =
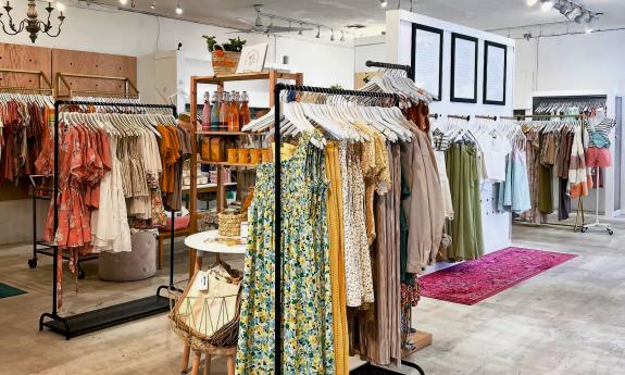
<path id="1" fill-rule="evenodd" d="M 464 27 L 441 20 L 427 17 L 407 11 L 389 11 L 386 14 L 386 62 L 411 64 L 412 53 L 412 24 L 418 23 L 442 29 L 443 59 L 442 59 L 442 100 L 430 105 L 430 112 L 462 115 L 511 115 L 514 92 L 514 40 L 499 35 Z M 460 33 L 475 37 L 478 42 L 477 61 L 477 103 L 457 103 L 450 101 L 451 82 L 451 33 Z M 483 104 L 483 72 L 484 72 L 484 41 L 490 40 L 508 46 L 508 76 L 505 105 Z M 378 50 L 375 47 L 374 50 Z M 360 57 L 360 54 L 357 55 Z M 482 191 L 484 243 L 487 252 L 499 250 L 510 245 L 511 217 L 510 214 L 495 214 L 492 212 L 492 186 L 484 185 Z"/>

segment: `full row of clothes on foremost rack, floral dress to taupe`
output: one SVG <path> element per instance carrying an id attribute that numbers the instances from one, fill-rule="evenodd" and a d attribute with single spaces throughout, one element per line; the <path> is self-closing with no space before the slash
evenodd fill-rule
<path id="1" fill-rule="evenodd" d="M 443 226 L 428 136 L 397 107 L 330 104 L 345 99 L 318 92 L 287 97 L 296 102 L 280 104 L 280 134 L 291 143 L 282 151 L 284 373 L 347 375 L 350 352 L 399 363 L 402 274 L 412 288 L 405 300 L 417 300 L 414 273 L 432 260 Z M 267 130 L 271 120 L 243 130 Z M 237 374 L 273 370 L 273 191 L 274 165 L 261 164 Z"/>

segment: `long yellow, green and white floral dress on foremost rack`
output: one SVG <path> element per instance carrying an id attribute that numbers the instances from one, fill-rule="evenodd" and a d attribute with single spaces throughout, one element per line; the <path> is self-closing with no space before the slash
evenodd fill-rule
<path id="1" fill-rule="evenodd" d="M 282 162 L 283 374 L 334 374 L 324 151 L 305 136 Z M 274 374 L 274 164 L 257 170 L 236 374 Z"/>

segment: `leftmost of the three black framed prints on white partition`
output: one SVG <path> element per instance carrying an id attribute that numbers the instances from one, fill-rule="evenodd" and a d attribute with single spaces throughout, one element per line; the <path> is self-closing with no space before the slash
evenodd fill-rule
<path id="1" fill-rule="evenodd" d="M 412 24 L 412 79 L 437 101 L 442 99 L 442 40 L 441 29 Z"/>

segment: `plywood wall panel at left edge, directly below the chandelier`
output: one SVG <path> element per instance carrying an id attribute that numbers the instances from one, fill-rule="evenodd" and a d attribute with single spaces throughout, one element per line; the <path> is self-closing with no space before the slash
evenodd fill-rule
<path id="1" fill-rule="evenodd" d="M 48 78 L 51 78 L 52 50 L 43 47 L 0 43 L 0 67 L 42 71 Z M 34 74 L 0 72 L 0 86 L 37 88 L 39 79 Z"/>

